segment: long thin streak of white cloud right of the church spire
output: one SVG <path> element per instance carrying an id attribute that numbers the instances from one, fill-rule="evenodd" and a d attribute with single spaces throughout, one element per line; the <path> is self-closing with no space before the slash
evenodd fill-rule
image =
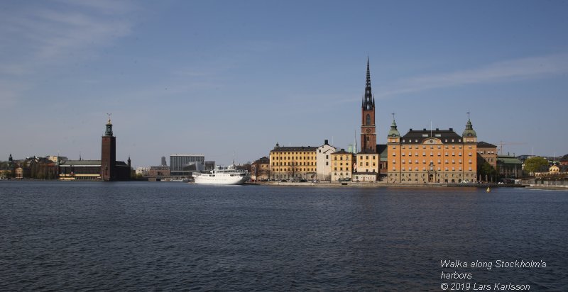
<path id="1" fill-rule="evenodd" d="M 568 54 L 566 53 L 527 57 L 496 62 L 476 69 L 401 79 L 393 84 L 387 84 L 381 92 L 377 93 L 377 96 L 388 97 L 467 84 L 538 79 L 566 72 L 568 72 Z"/>

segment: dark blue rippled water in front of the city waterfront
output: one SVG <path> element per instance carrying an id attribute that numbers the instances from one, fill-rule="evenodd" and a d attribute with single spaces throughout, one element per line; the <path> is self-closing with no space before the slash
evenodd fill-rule
<path id="1" fill-rule="evenodd" d="M 1 291 L 441 291 L 442 271 L 568 291 L 567 191 L 0 181 L 0 203 Z"/>

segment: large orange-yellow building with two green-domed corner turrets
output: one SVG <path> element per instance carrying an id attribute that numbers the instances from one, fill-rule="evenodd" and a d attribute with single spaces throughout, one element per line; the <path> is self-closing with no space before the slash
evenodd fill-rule
<path id="1" fill-rule="evenodd" d="M 387 137 L 389 183 L 475 182 L 477 135 L 468 120 L 460 136 L 449 130 L 413 130 L 400 136 L 393 120 Z"/>

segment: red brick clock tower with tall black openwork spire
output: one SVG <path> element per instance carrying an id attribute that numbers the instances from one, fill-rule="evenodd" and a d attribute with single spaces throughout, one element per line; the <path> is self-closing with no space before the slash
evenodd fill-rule
<path id="1" fill-rule="evenodd" d="M 371 93 L 371 70 L 368 67 L 365 96 L 361 104 L 361 152 L 376 153 L 377 134 L 375 132 L 375 98 Z"/>

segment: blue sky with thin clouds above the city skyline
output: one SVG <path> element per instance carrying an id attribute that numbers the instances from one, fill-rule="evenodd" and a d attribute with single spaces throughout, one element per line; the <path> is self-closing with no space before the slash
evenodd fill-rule
<path id="1" fill-rule="evenodd" d="M 359 135 L 454 128 L 568 153 L 567 1 L 1 1 L 0 157 L 247 162 Z M 357 137 L 359 140 L 359 137 Z M 0 158 L 0 159 L 6 159 Z"/>

